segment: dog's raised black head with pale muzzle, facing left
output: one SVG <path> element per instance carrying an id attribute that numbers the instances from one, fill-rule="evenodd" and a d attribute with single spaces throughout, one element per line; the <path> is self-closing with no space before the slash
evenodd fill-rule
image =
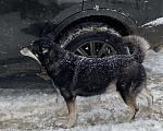
<path id="1" fill-rule="evenodd" d="M 28 56 L 37 60 L 39 63 L 42 62 L 45 56 L 48 56 L 53 47 L 53 43 L 49 39 L 34 40 L 29 46 L 21 48 L 23 56 Z"/>

